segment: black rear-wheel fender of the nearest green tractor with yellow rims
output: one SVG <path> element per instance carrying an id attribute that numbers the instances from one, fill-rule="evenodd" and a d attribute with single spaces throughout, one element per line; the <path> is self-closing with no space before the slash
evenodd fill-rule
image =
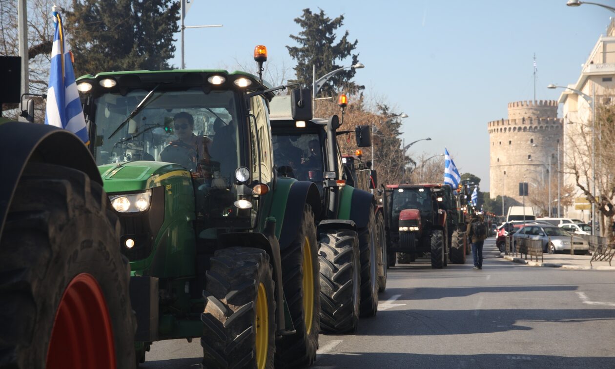
<path id="1" fill-rule="evenodd" d="M 314 183 L 308 181 L 293 182 L 286 207 L 284 209 L 284 220 L 280 230 L 280 250 L 285 250 L 296 237 L 303 217 L 304 204 L 309 204 L 314 212 L 316 221 L 320 215 L 322 204 L 320 202 L 320 192 Z"/>

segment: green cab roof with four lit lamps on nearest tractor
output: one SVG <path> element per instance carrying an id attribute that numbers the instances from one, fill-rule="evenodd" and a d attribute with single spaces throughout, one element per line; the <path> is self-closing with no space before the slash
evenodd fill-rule
<path id="1" fill-rule="evenodd" d="M 212 79 L 214 76 L 218 76 L 218 78 Z M 258 77 L 253 74 L 242 71 L 229 72 L 224 69 L 103 72 L 95 76 L 85 74 L 85 76 L 77 78 L 76 82 L 77 88 L 82 92 L 92 90 L 122 92 L 135 88 L 152 88 L 157 84 L 161 84 L 167 89 L 202 87 L 204 90 L 245 89 L 248 92 L 259 92 L 272 88 L 271 84 L 266 81 L 259 81 Z M 82 84 L 90 84 L 89 90 L 79 88 L 79 85 Z M 274 96 L 273 92 L 264 93 L 264 95 L 269 100 Z"/>

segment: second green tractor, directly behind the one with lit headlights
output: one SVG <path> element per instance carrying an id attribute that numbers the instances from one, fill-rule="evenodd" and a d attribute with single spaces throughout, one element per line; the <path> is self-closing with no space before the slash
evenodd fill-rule
<path id="1" fill-rule="evenodd" d="M 275 97 L 271 103 L 274 156 L 280 177 L 309 181 L 319 191 L 321 328 L 329 333 L 353 332 L 359 316 L 378 311 L 382 263 L 375 200 L 370 192 L 346 184 L 336 138 L 344 133 L 338 132 L 338 116 L 297 120 L 288 100 Z M 368 126 L 352 133 L 358 146 L 370 145 Z"/>

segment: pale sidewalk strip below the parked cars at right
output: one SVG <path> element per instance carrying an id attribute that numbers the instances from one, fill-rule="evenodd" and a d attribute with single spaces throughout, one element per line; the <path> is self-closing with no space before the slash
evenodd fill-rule
<path id="1" fill-rule="evenodd" d="M 570 255 L 569 253 L 557 253 L 557 254 L 544 254 L 541 261 L 530 261 L 530 256 L 525 260 L 523 257 L 517 254 L 515 258 L 512 255 L 504 255 L 500 253 L 500 257 L 504 260 L 512 261 L 513 263 L 525 264 L 527 266 L 544 266 L 547 268 L 562 268 L 562 269 L 576 269 L 576 270 L 594 270 L 594 271 L 615 271 L 615 261 L 613 266 L 609 266 L 608 261 L 594 261 L 593 266 L 589 261 L 592 260 L 592 255 Z M 536 260 L 536 257 L 534 257 Z M 541 260 L 541 258 L 538 258 Z"/>

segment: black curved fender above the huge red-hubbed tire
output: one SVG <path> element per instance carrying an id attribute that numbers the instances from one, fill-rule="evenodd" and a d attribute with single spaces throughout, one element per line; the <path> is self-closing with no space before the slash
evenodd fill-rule
<path id="1" fill-rule="evenodd" d="M 7 122 L 0 124 L 0 234 L 17 183 L 28 162 L 44 162 L 81 170 L 102 185 L 96 162 L 73 133 L 44 124 Z"/>

